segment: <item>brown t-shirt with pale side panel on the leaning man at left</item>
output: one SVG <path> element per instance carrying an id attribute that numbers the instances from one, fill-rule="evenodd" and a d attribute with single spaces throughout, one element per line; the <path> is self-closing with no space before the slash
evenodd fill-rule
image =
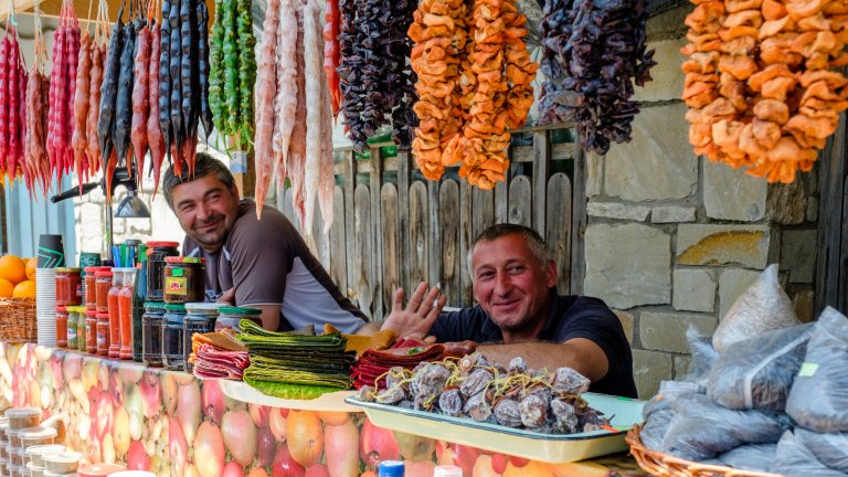
<path id="1" fill-rule="evenodd" d="M 235 288 L 236 306 L 278 305 L 278 330 L 326 322 L 353 332 L 368 320 L 344 297 L 320 262 L 309 252 L 292 222 L 276 209 L 262 210 L 243 200 L 224 246 L 214 254 L 186 237 L 186 256 L 206 259 L 206 294 Z"/>

